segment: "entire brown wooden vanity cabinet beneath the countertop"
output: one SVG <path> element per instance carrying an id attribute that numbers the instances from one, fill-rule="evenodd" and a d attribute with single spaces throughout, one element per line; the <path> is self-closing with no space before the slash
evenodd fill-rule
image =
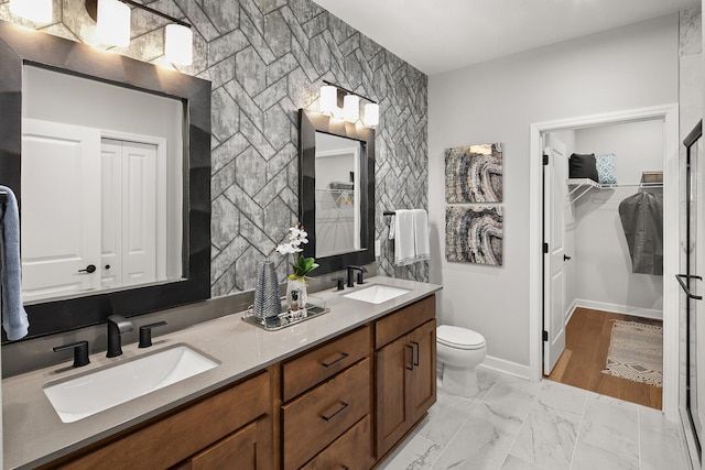
<path id="1" fill-rule="evenodd" d="M 43 468 L 369 470 L 436 400 L 435 296 Z"/>

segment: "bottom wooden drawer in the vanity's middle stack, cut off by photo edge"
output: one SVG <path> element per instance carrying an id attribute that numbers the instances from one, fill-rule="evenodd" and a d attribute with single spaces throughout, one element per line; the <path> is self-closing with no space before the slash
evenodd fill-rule
<path id="1" fill-rule="evenodd" d="M 370 416 L 367 415 L 302 470 L 368 470 L 372 464 Z"/>

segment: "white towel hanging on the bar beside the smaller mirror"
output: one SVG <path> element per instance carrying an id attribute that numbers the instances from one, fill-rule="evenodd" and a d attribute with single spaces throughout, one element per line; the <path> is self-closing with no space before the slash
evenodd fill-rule
<path id="1" fill-rule="evenodd" d="M 395 265 L 405 266 L 429 259 L 429 215 L 425 209 L 397 210 L 393 230 Z"/>

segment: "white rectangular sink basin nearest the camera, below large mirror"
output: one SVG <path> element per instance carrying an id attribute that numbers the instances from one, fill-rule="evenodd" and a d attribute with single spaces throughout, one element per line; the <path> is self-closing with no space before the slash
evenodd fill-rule
<path id="1" fill-rule="evenodd" d="M 62 422 L 73 423 L 217 367 L 178 345 L 66 381 L 44 385 Z"/>

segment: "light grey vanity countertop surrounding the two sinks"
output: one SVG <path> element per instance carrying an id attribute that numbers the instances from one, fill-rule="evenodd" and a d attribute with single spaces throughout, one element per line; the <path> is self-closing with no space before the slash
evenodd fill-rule
<path id="1" fill-rule="evenodd" d="M 105 352 L 90 356 L 90 364 L 72 368 L 62 363 L 2 381 L 3 467 L 35 468 L 70 453 L 91 442 L 187 403 L 208 392 L 236 382 L 247 375 L 322 343 L 345 331 L 426 297 L 440 285 L 376 276 L 371 284 L 386 284 L 410 289 L 382 304 L 369 304 L 341 297 L 343 292 L 322 291 L 312 295 L 324 298 L 329 313 L 278 331 L 265 331 L 241 320 L 242 313 L 194 325 L 187 329 L 155 336 L 153 346 L 138 349 L 126 345 L 123 354 L 106 358 Z M 134 398 L 75 423 L 62 423 L 46 398 L 42 386 L 47 382 L 85 374 L 94 369 L 115 364 L 177 343 L 191 347 L 217 359 L 220 364 L 209 371 Z"/>

